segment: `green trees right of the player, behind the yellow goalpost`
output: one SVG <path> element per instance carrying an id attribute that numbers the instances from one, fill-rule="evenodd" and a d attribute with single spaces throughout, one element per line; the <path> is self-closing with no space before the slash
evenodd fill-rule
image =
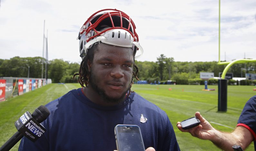
<path id="1" fill-rule="evenodd" d="M 165 81 L 200 78 L 200 72 L 213 72 L 214 76 L 219 76 L 227 65 L 218 65 L 217 61 L 211 62 L 180 62 L 174 58 L 167 58 L 161 54 L 156 58 L 156 62 L 135 61 L 139 68 L 138 78 L 140 80 Z M 246 73 L 256 73 L 256 62 L 234 64 L 228 70 L 233 73 L 233 77 L 245 77 Z"/>

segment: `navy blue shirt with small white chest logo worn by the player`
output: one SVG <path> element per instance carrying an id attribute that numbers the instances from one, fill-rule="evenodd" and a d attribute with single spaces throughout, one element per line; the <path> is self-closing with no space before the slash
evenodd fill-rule
<path id="1" fill-rule="evenodd" d="M 180 150 L 166 113 L 137 93 L 119 105 L 106 107 L 91 102 L 79 88 L 46 107 L 51 111 L 42 123 L 46 132 L 35 143 L 23 137 L 19 150 L 113 151 L 117 149 L 117 124 L 138 125 L 145 148 Z M 141 114 L 147 118 L 145 123 L 140 122 Z"/>

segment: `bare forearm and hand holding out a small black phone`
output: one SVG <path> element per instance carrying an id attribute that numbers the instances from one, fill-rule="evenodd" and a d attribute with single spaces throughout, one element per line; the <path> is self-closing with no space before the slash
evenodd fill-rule
<path id="1" fill-rule="evenodd" d="M 236 127 L 232 133 L 225 133 L 214 129 L 199 112 L 196 112 L 195 116 L 201 122 L 199 126 L 184 130 L 181 128 L 180 122 L 177 122 L 178 129 L 182 132 L 189 132 L 194 137 L 210 140 L 223 150 L 233 151 L 233 145 L 239 145 L 242 149 L 245 149 L 253 141 L 253 135 L 243 126 Z"/>

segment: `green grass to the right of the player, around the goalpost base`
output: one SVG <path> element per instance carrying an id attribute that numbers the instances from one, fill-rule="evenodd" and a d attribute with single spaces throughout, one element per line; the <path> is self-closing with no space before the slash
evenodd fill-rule
<path id="1" fill-rule="evenodd" d="M 171 88 L 171 91 L 169 90 Z M 208 85 L 215 91 L 202 91 L 204 85 L 134 85 L 133 90 L 166 111 L 173 124 L 181 150 L 220 150 L 212 142 L 192 137 L 176 127 L 177 121 L 194 116 L 196 111 L 204 116 L 214 128 L 232 131 L 244 104 L 254 95 L 255 86 L 228 86 L 227 112 L 218 112 L 218 86 Z M 214 123 L 223 124 L 227 127 Z M 231 128 L 228 128 L 231 127 Z M 234 144 L 235 145 L 235 144 Z M 254 150 L 253 143 L 247 150 Z"/>

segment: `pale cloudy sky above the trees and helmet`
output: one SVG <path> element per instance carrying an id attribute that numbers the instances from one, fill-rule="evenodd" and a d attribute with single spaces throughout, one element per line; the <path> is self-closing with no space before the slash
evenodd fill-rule
<path id="1" fill-rule="evenodd" d="M 45 20 L 48 59 L 80 63 L 78 32 L 105 8 L 134 21 L 144 49 L 138 61 L 155 62 L 161 54 L 175 61 L 219 59 L 218 0 L 1 0 L 0 59 L 42 57 Z M 256 58 L 255 8 L 255 0 L 221 1 L 221 60 Z"/>

